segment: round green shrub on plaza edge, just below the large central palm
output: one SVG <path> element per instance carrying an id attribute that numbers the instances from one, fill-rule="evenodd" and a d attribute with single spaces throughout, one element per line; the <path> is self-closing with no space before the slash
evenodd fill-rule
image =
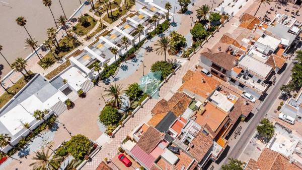
<path id="1" fill-rule="evenodd" d="M 99 116 L 99 121 L 106 126 L 117 124 L 119 120 L 120 114 L 117 112 L 117 109 L 109 105 L 103 108 Z"/>

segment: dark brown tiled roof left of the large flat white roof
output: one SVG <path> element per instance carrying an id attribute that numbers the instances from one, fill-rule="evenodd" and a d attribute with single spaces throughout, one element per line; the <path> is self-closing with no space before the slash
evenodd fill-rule
<path id="1" fill-rule="evenodd" d="M 235 56 L 228 54 L 224 51 L 212 53 L 208 50 L 200 53 L 200 57 L 205 57 L 216 65 L 221 66 L 225 70 L 231 71 L 237 62 Z"/>

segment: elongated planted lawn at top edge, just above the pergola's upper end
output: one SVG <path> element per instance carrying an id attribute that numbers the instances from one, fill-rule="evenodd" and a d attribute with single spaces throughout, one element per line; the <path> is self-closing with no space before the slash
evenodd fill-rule
<path id="1" fill-rule="evenodd" d="M 135 4 L 135 1 L 127 0 L 127 6 L 128 6 L 127 7 L 127 12 L 129 12 L 129 9 L 131 9 L 131 7 L 134 4 Z M 112 11 L 112 16 L 109 14 L 109 18 L 108 18 L 108 15 L 105 15 L 103 20 L 106 21 L 109 24 L 112 24 L 114 21 L 118 20 L 120 17 L 122 17 L 125 14 L 126 14 L 126 6 L 123 5 L 120 10 Z"/>

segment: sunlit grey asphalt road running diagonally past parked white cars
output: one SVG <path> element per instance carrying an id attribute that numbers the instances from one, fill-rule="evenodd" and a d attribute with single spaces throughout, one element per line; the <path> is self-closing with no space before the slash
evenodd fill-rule
<path id="1" fill-rule="evenodd" d="M 252 118 L 250 121 L 252 121 L 249 125 L 249 127 L 246 129 L 245 132 L 240 135 L 240 142 L 237 142 L 237 144 L 233 147 L 232 151 L 228 155 L 228 157 L 236 158 L 240 156 L 240 154 L 244 151 L 246 145 L 249 143 L 249 140 L 251 139 L 251 136 L 256 131 L 256 126 L 260 122 L 260 120 L 264 117 L 264 115 L 269 111 L 270 107 L 274 103 L 275 99 L 279 97 L 280 94 L 280 87 L 283 84 L 286 84 L 287 81 L 290 78 L 291 75 L 291 68 L 293 67 L 292 62 L 287 66 L 286 70 L 282 73 L 281 79 L 275 83 L 275 86 L 273 86 L 272 91 L 266 96 L 264 101 L 262 102 L 258 112 L 255 114 L 254 118 Z M 272 87 L 271 87 L 272 88 Z M 235 149 L 236 148 L 236 149 Z M 223 164 L 228 162 L 228 159 L 226 159 Z"/>

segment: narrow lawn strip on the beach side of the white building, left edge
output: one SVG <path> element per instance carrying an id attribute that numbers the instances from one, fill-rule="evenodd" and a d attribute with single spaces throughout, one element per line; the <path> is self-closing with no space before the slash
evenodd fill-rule
<path id="1" fill-rule="evenodd" d="M 31 73 L 30 73 L 31 74 Z M 31 77 L 33 77 L 34 75 L 31 74 Z M 10 99 L 12 97 L 14 97 L 14 95 L 16 93 L 18 93 L 18 91 L 20 91 L 28 82 L 29 80 L 24 80 L 24 77 L 22 77 L 21 79 L 19 79 L 14 85 L 12 85 L 8 91 L 11 93 L 3 93 L 0 96 L 0 108 L 2 108 L 8 101 L 10 101 Z"/>

